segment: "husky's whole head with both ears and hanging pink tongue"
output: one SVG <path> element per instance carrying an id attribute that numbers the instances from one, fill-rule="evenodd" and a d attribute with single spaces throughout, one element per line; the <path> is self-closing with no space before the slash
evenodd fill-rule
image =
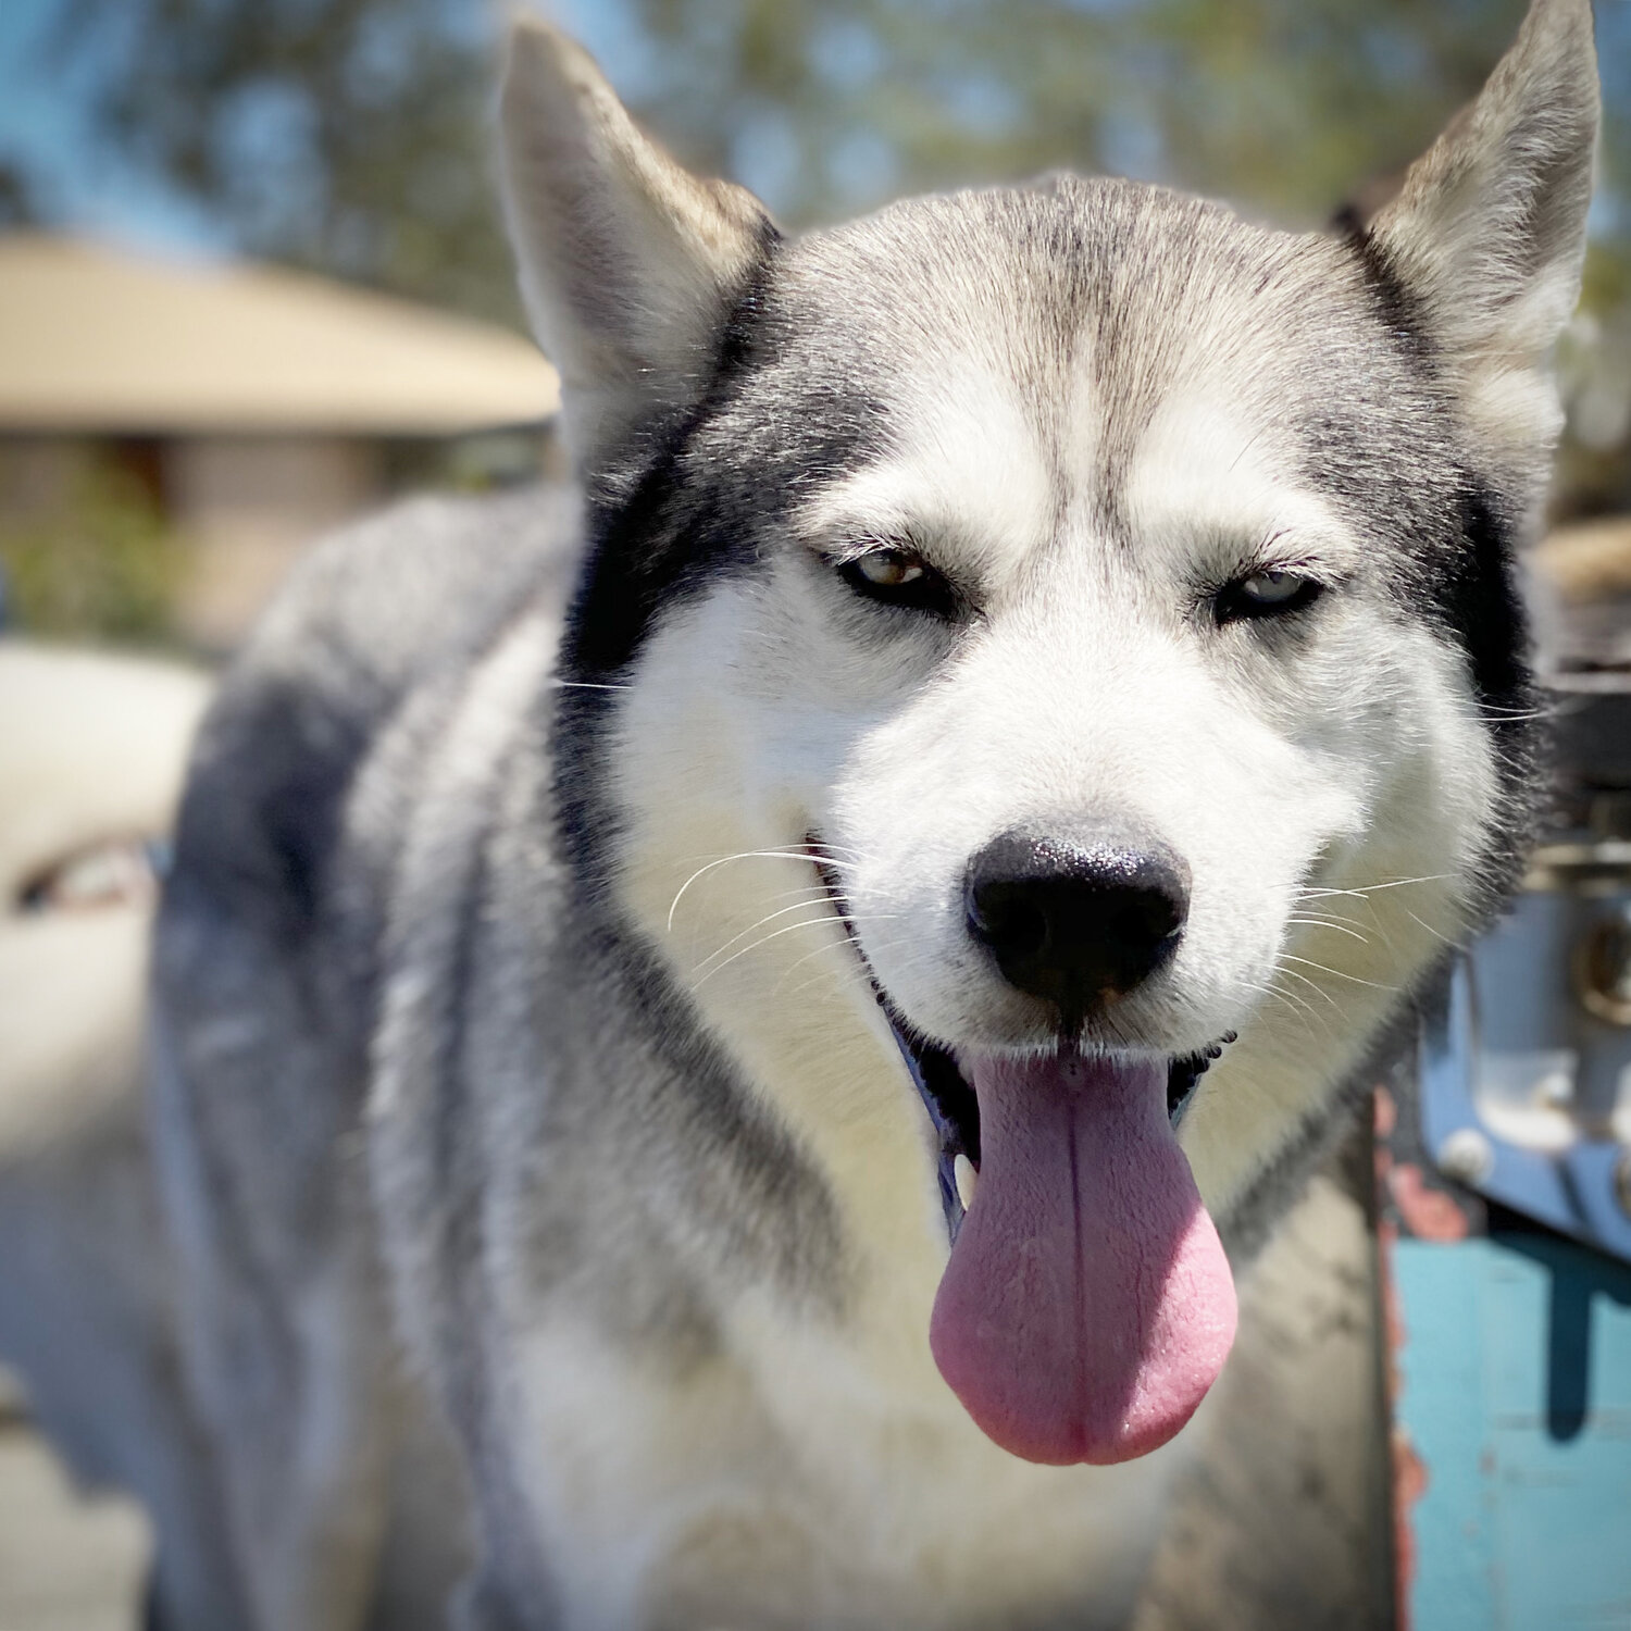
<path id="1" fill-rule="evenodd" d="M 1187 1419 L 1209 1209 L 1510 864 L 1593 132 L 1589 11 L 1538 0 L 1350 240 L 1059 179 L 786 243 L 519 38 L 512 220 L 602 517 L 579 860 L 814 1143 L 915 1078 L 935 1354 L 1019 1455 Z"/>

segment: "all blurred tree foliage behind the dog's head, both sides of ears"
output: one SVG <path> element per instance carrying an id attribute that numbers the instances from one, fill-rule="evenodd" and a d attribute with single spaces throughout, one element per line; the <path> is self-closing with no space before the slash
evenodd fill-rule
<path id="1" fill-rule="evenodd" d="M 486 183 L 491 0 L 62 3 L 72 49 L 83 52 L 88 34 L 103 41 L 108 69 L 93 109 L 101 129 L 223 215 L 246 250 L 515 316 Z M 1525 0 L 556 7 L 683 158 L 745 181 L 789 225 L 905 191 L 1059 165 L 1169 179 L 1316 222 L 1432 140 L 1478 90 L 1523 8 Z M 1611 329 L 1631 300 L 1628 0 L 1600 0 L 1598 36 L 1610 119 L 1587 289 Z M 1579 367 L 1593 365 L 1602 373 L 1579 351 Z M 1582 390 L 1597 400 L 1611 387 L 1597 378 Z M 1610 419 L 1597 414 L 1600 426 Z M 1624 440 L 1574 468 L 1593 471 L 1589 502 L 1613 502 L 1616 493 L 1631 501 Z"/>

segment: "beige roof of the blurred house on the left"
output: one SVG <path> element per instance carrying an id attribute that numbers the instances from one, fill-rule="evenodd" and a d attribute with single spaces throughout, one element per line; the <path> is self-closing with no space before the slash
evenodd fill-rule
<path id="1" fill-rule="evenodd" d="M 0 235 L 0 431 L 442 435 L 559 406 L 506 328 L 267 266 Z"/>

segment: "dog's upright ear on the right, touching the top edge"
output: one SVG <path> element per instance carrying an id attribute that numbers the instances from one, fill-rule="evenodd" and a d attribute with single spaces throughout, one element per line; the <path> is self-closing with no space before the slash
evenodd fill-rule
<path id="1" fill-rule="evenodd" d="M 1370 227 L 1523 504 L 1562 422 L 1549 357 L 1580 292 L 1597 122 L 1590 0 L 1533 0 L 1478 99 Z"/>

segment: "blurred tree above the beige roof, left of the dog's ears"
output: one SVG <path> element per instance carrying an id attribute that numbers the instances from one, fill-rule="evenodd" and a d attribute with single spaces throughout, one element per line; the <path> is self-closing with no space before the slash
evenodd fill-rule
<path id="1" fill-rule="evenodd" d="M 109 142 L 241 246 L 515 320 L 470 0 L 64 0 Z"/>

